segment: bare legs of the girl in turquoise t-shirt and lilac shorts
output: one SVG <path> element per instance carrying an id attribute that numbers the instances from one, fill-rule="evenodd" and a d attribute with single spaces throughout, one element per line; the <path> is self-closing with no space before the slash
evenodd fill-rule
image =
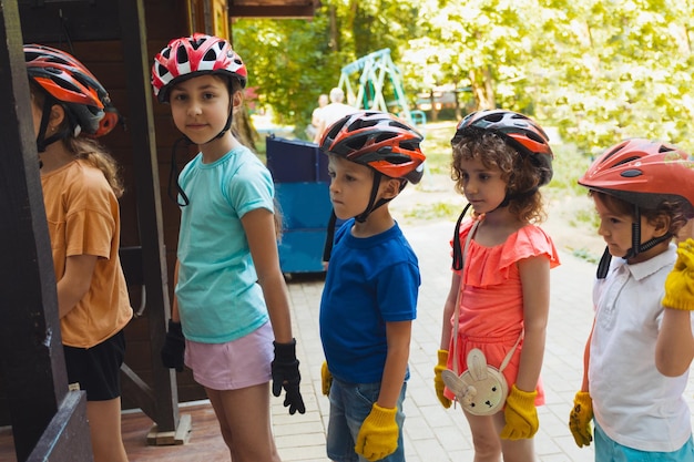
<path id="1" fill-rule="evenodd" d="M 205 391 L 234 462 L 279 462 L 269 422 L 269 383 Z"/>

